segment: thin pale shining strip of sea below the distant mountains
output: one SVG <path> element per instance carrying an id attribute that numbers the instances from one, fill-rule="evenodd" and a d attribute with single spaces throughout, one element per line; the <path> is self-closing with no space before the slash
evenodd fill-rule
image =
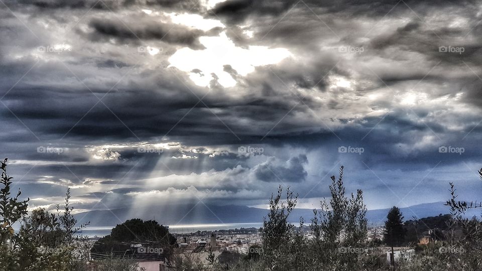
<path id="1" fill-rule="evenodd" d="M 260 228 L 263 223 L 227 223 L 227 224 L 176 224 L 169 225 L 170 233 L 192 233 L 196 231 L 215 231 L 215 230 L 228 230 L 228 229 L 240 229 L 240 228 Z M 78 234 L 86 235 L 88 237 L 102 237 L 110 234 L 114 226 L 109 227 L 95 227 L 87 226 L 82 229 Z"/>

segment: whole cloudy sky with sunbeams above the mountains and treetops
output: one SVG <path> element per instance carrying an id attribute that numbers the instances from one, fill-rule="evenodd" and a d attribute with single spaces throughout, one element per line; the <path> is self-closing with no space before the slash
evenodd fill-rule
<path id="1" fill-rule="evenodd" d="M 0 156 L 29 207 L 479 200 L 477 1 L 1 0 Z M 240 214 L 242 215 L 242 214 Z"/>

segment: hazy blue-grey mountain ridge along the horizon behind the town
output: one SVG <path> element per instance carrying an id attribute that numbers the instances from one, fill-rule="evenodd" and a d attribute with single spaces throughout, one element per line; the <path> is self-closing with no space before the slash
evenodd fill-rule
<path id="1" fill-rule="evenodd" d="M 449 212 L 444 202 L 433 202 L 400 208 L 405 220 L 436 216 Z M 367 211 L 369 225 L 382 225 L 390 209 L 376 209 Z M 169 206 L 149 207 L 149 209 L 120 208 L 112 210 L 94 210 L 75 214 L 78 223 L 90 221 L 90 226 L 115 226 L 131 218 L 155 219 L 160 224 L 219 224 L 219 223 L 257 223 L 263 222 L 268 214 L 267 209 L 238 205 L 204 205 L 179 204 Z M 480 214 L 479 211 L 468 212 L 467 216 Z M 294 209 L 290 215 L 290 222 L 299 222 L 302 216 L 307 224 L 313 217 L 312 209 Z"/>

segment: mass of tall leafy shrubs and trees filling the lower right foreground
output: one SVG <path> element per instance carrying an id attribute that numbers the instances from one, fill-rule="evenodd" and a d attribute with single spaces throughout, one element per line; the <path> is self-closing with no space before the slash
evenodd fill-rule
<path id="1" fill-rule="evenodd" d="M 482 169 L 479 172 L 482 178 Z M 409 220 L 402 223 L 402 214 L 397 207 L 387 216 L 386 242 L 404 245 L 395 266 L 387 261 L 389 247 L 381 240 L 366 241 L 367 220 L 363 193 L 345 196 L 343 168 L 340 176 L 331 177 L 331 199 L 321 201 L 321 211 L 314 210 L 311 219 L 313 238 L 307 238 L 288 223 L 288 217 L 296 206 L 298 197 L 290 187 L 282 201 L 283 188 L 270 199 L 270 212 L 264 220 L 262 249 L 259 255 L 250 252 L 230 265 L 209 259 L 208 266 L 199 261 L 184 261 L 175 265 L 176 270 L 481 270 L 482 269 L 482 223 L 466 219 L 463 214 L 469 208 L 480 205 L 456 201 L 453 184 L 452 198 L 446 205 L 449 215 Z M 304 220 L 300 218 L 300 226 Z M 300 227 L 301 228 L 301 227 Z M 429 229 L 437 238 L 428 244 L 418 244 Z M 393 239 L 388 236 L 395 236 Z M 407 235 L 405 236 L 405 233 Z M 404 238 L 404 236 L 406 238 Z M 432 236 L 433 237 L 433 236 Z"/>

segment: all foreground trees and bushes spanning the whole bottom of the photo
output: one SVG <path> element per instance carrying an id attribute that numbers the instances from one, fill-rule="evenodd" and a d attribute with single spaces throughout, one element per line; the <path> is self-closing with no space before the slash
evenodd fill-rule
<path id="1" fill-rule="evenodd" d="M 165 249 L 175 270 L 480 270 L 482 269 L 482 223 L 468 219 L 468 209 L 480 204 L 457 201 L 450 183 L 450 214 L 408 220 L 402 223 L 397 207 L 387 215 L 385 242 L 401 245 L 395 266 L 387 262 L 381 240 L 367 241 L 367 208 L 363 192 L 346 194 L 343 167 L 339 177 L 331 177 L 331 198 L 321 201 L 309 225 L 311 235 L 289 223 L 298 195 L 290 187 L 279 187 L 269 201 L 270 211 L 260 229 L 261 245 L 250 247 L 248 255 L 209 251 L 205 260 L 194 253 L 181 254 L 175 238 L 156 221 L 130 219 L 117 225 L 94 247 L 78 232 L 70 207 L 70 190 L 57 212 L 44 209 L 27 212 L 28 199 L 19 200 L 20 190 L 11 196 L 12 177 L 7 175 L 7 159 L 2 162 L 0 187 L 0 271 L 17 270 L 141 270 L 134 257 L 115 252 L 134 250 L 131 244 L 147 244 Z M 482 178 L 482 169 L 479 172 Z M 14 223 L 20 223 L 18 232 Z M 420 242 L 419 240 L 424 240 Z M 128 248 L 126 249 L 126 245 Z M 103 257 L 92 259 L 93 254 Z M 135 254 L 135 253 L 134 253 Z"/>

